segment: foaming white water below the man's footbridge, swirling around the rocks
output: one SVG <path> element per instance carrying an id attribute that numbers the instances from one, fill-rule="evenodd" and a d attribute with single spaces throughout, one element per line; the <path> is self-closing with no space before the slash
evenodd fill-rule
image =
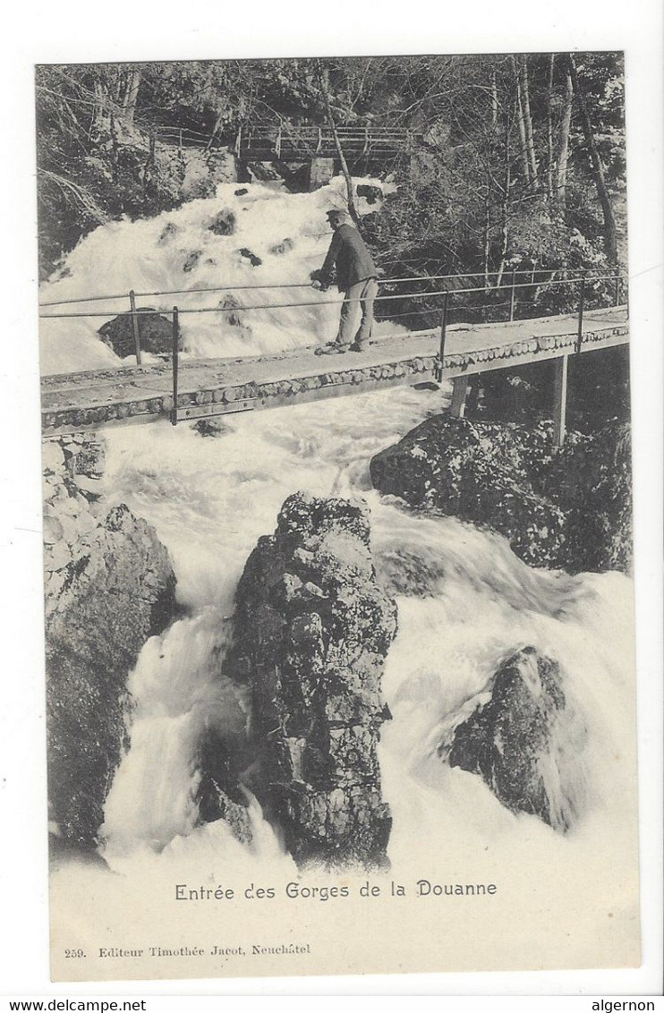
<path id="1" fill-rule="evenodd" d="M 525 856 L 533 844 L 558 861 L 570 849 L 592 854 L 609 828 L 632 826 L 631 581 L 532 569 L 500 536 L 414 516 L 369 486 L 371 456 L 445 401 L 441 392 L 402 389 L 228 416 L 215 438 L 190 425 L 107 433 L 106 492 L 155 526 L 189 610 L 146 645 L 131 680 L 131 747 L 104 826 L 114 868 L 142 867 L 150 853 L 159 863 L 176 853 L 178 862 L 187 855 L 205 864 L 215 849 L 218 860 L 235 862 L 239 850 L 245 862 L 268 854 L 290 861 L 254 800 L 247 849 L 223 827 L 197 827 L 194 797 L 202 731 L 241 734 L 246 719 L 244 702 L 220 677 L 234 590 L 256 539 L 274 530 L 296 489 L 368 501 L 378 579 L 397 599 L 398 633 L 383 679 L 392 720 L 380 747 L 392 862 L 458 857 L 481 846 L 492 856 Z M 559 808 L 580 819 L 565 838 L 508 811 L 481 778 L 451 769 L 439 753 L 450 721 L 486 692 L 506 656 L 528 644 L 558 661 L 577 715 L 556 769 L 543 772 L 554 795 L 561 771 L 572 785 Z"/>

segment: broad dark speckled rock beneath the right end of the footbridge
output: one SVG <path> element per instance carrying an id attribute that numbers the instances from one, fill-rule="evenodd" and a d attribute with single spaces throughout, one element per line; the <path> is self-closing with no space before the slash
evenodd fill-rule
<path id="1" fill-rule="evenodd" d="M 411 506 L 486 524 L 536 566 L 626 569 L 632 546 L 629 427 L 570 433 L 435 415 L 370 464 L 374 486 Z"/>

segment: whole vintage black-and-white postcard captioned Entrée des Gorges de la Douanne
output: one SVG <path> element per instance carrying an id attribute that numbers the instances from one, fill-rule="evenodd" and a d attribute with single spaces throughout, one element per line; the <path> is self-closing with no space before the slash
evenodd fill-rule
<path id="1" fill-rule="evenodd" d="M 53 978 L 637 966 L 622 54 L 35 101 Z"/>

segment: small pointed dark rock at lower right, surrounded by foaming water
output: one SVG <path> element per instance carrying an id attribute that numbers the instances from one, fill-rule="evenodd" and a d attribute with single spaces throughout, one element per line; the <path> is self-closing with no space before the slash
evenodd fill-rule
<path id="1" fill-rule="evenodd" d="M 450 766 L 479 774 L 509 809 L 564 833 L 578 815 L 585 727 L 567 706 L 557 663 L 525 647 L 501 666 L 489 693 L 456 726 Z"/>

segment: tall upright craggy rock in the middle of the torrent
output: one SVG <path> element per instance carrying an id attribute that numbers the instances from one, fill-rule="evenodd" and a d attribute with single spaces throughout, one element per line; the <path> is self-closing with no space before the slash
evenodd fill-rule
<path id="1" fill-rule="evenodd" d="M 396 629 L 361 502 L 290 496 L 239 581 L 225 671 L 250 687 L 250 783 L 300 864 L 385 861 L 391 820 L 376 747 Z"/>

